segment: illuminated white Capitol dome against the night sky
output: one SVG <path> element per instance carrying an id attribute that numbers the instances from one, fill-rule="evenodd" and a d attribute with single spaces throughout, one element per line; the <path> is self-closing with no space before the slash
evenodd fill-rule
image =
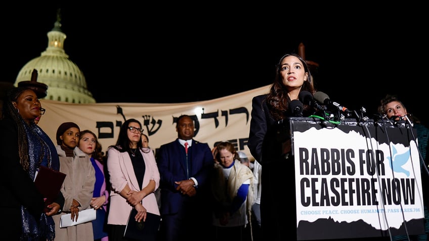
<path id="1" fill-rule="evenodd" d="M 37 71 L 37 82 L 48 86 L 44 99 L 76 104 L 96 103 L 87 89 L 87 81 L 82 71 L 69 60 L 64 51 L 66 34 L 61 30 L 60 21 L 60 15 L 57 14 L 54 28 L 48 32 L 46 51 L 22 67 L 14 85 L 21 86 L 29 82 L 32 75 L 34 78 L 33 71 Z"/>

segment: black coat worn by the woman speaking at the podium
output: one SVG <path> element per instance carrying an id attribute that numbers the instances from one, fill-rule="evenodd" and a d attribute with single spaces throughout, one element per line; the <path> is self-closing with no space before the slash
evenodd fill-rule
<path id="1" fill-rule="evenodd" d="M 293 157 L 282 155 L 281 127 L 271 117 L 267 94 L 252 99 L 249 147 L 261 163 L 261 225 L 264 240 L 296 240 L 295 175 Z M 286 194 L 286 199 L 284 195 Z M 286 202 L 287 200 L 287 202 Z"/>

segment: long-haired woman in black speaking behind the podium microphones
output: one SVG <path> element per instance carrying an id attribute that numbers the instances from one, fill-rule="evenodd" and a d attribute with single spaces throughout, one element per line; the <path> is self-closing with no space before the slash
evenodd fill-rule
<path id="1" fill-rule="evenodd" d="M 314 94 L 310 69 L 299 55 L 284 55 L 276 69 L 276 77 L 268 94 L 252 99 L 248 147 L 252 156 L 264 167 L 261 176 L 261 228 L 263 240 L 296 240 L 296 205 L 294 162 L 290 139 L 279 140 L 278 122 L 296 116 L 288 110 L 301 91 Z M 304 114 L 311 107 L 303 105 Z M 282 136 L 280 136 L 282 137 Z M 281 197 L 292 197 L 285 200 Z"/>

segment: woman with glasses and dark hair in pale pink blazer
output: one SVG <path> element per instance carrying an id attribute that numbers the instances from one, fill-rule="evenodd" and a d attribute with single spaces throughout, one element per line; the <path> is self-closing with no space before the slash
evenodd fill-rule
<path id="1" fill-rule="evenodd" d="M 109 240 L 124 240 L 123 233 L 133 208 L 135 218 L 145 221 L 147 212 L 159 215 L 155 190 L 159 186 L 159 171 L 155 156 L 143 148 L 143 129 L 136 119 L 126 120 L 119 131 L 115 146 L 107 150 L 107 170 L 110 176 L 110 208 L 107 223 Z M 149 239 L 155 240 L 155 235 Z"/>

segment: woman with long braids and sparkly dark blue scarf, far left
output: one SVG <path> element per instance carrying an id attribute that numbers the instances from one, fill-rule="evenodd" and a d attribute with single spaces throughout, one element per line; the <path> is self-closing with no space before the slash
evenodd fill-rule
<path id="1" fill-rule="evenodd" d="M 39 166 L 59 170 L 55 145 L 34 123 L 40 114 L 36 93 L 25 87 L 7 92 L 0 121 L 0 225 L 2 240 L 54 240 L 52 216 L 61 212 L 64 197 L 61 192 L 54 203 L 45 205 L 44 197 L 34 185 Z M 48 207 L 49 212 L 44 212 Z"/>

